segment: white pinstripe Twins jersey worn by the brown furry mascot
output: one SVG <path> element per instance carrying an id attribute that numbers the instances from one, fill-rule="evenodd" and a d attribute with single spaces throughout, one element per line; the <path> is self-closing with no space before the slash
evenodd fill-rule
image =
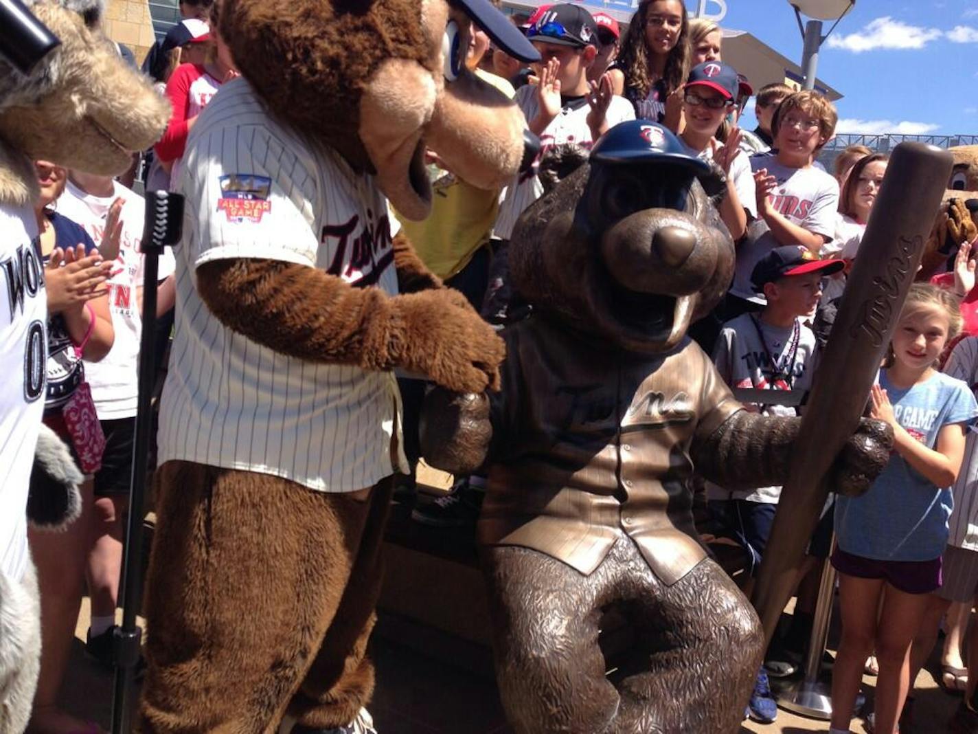
<path id="1" fill-rule="evenodd" d="M 256 344 L 204 306 L 204 262 L 255 257 L 318 267 L 397 293 L 387 206 L 373 179 L 301 138 L 244 79 L 221 87 L 187 141 L 176 249 L 176 331 L 159 461 L 179 459 L 354 491 L 407 470 L 392 372 L 313 363 Z"/>

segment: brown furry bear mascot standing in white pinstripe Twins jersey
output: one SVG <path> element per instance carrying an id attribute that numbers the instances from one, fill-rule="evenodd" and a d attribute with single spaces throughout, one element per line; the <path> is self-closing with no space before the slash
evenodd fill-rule
<path id="1" fill-rule="evenodd" d="M 499 384 L 502 341 L 428 272 L 387 202 L 430 207 L 425 149 L 501 188 L 538 144 L 465 66 L 489 0 L 222 0 L 241 78 L 197 118 L 175 190 L 176 325 L 160 407 L 143 732 L 360 732 L 394 368 Z"/>

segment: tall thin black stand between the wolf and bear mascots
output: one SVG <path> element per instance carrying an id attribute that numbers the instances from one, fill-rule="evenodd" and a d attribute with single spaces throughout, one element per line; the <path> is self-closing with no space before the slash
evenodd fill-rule
<path id="1" fill-rule="evenodd" d="M 159 255 L 166 245 L 180 241 L 183 197 L 168 191 L 146 194 L 146 226 L 142 252 L 146 256 L 143 279 L 143 334 L 139 348 L 139 407 L 129 484 L 129 517 L 126 524 L 125 556 L 122 562 L 122 624 L 115 628 L 115 681 L 112 691 L 112 734 L 132 731 L 133 673 L 139 663 L 142 629 L 136 624 L 140 598 L 143 514 L 146 474 L 150 459 L 153 413 L 150 400 L 156 383 L 156 273 Z"/>

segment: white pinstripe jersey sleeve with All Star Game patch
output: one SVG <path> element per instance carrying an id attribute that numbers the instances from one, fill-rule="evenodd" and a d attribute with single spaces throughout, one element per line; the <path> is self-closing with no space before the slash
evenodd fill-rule
<path id="1" fill-rule="evenodd" d="M 319 201 L 312 158 L 260 125 L 216 127 L 185 159 L 185 245 L 195 267 L 255 257 L 315 267 Z M 187 221 L 189 219 L 189 221 Z"/>

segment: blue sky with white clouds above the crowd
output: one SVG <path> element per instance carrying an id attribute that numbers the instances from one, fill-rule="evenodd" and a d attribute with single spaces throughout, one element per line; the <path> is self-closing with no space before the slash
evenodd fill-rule
<path id="1" fill-rule="evenodd" d="M 801 61 L 787 0 L 726 3 L 722 25 Z M 844 95 L 839 132 L 978 134 L 978 0 L 857 0 L 822 46 L 819 77 Z"/>

